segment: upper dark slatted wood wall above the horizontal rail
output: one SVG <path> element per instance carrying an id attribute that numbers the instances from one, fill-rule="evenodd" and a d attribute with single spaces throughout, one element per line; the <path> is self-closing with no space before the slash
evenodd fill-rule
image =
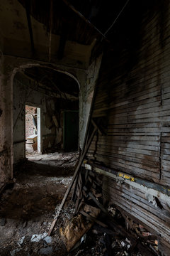
<path id="1" fill-rule="evenodd" d="M 88 156 L 169 186 L 170 7 L 163 2 L 163 23 L 154 8 L 138 24 L 140 43 L 134 49 L 120 48 L 103 58 L 93 118 L 104 119 L 106 135 L 94 138 Z"/>

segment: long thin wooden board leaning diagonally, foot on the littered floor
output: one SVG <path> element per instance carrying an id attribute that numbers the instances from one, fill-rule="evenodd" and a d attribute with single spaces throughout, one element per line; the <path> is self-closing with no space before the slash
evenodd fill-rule
<path id="1" fill-rule="evenodd" d="M 88 141 L 88 143 L 87 143 L 87 145 L 86 145 L 86 148 L 84 149 L 84 153 L 81 155 L 81 159 L 79 160 L 79 164 L 78 164 L 78 166 L 77 166 L 77 169 L 76 169 L 76 171 L 74 172 L 74 176 L 73 176 L 73 178 L 72 178 L 72 181 L 71 181 L 71 183 L 69 184 L 69 187 L 67 188 L 67 191 L 66 191 L 66 193 L 65 193 L 65 195 L 64 195 L 64 198 L 62 199 L 62 203 L 60 204 L 60 208 L 59 208 L 59 210 L 58 210 L 58 212 L 57 212 L 57 215 L 55 216 L 55 219 L 53 220 L 52 225 L 51 225 L 51 227 L 50 227 L 50 230 L 48 231 L 48 235 L 51 235 L 53 228 L 55 228 L 55 223 L 57 222 L 57 217 L 59 216 L 59 214 L 60 214 L 62 208 L 64 207 L 64 204 L 65 204 L 65 202 L 66 202 L 66 200 L 67 200 L 67 197 L 69 196 L 69 192 L 71 191 L 72 186 L 73 186 L 73 184 L 74 184 L 74 181 L 75 181 L 75 179 L 77 178 L 77 174 L 79 174 L 79 170 L 80 170 L 81 164 L 82 164 L 83 161 L 84 161 L 84 156 L 86 155 L 86 152 L 87 152 L 88 149 L 89 149 L 89 146 L 90 146 L 90 144 L 91 144 L 91 141 L 92 141 L 92 139 L 94 138 L 94 135 L 95 135 L 95 133 L 96 133 L 96 130 L 97 130 L 97 128 L 94 127 L 94 130 L 93 130 L 93 132 L 92 132 L 92 134 L 91 134 L 91 137 L 89 138 L 89 141 Z"/>

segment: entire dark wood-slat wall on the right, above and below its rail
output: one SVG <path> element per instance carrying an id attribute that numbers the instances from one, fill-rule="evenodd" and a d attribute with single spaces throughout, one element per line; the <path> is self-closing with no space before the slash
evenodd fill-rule
<path id="1" fill-rule="evenodd" d="M 168 200 L 159 198 L 158 186 L 169 198 L 169 4 L 137 1 L 124 13 L 123 22 L 117 23 L 115 45 L 103 55 L 93 111 L 103 135 L 94 137 L 87 154 L 123 177 L 116 181 L 108 175 L 103 181 L 104 196 L 156 233 L 164 255 L 170 251 L 170 208 Z M 141 186 L 125 186 L 127 178 L 140 178 L 157 193 L 153 196 Z"/>

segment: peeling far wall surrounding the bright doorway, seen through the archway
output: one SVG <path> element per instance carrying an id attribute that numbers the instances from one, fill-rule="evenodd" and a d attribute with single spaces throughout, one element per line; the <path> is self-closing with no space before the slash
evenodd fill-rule
<path id="1" fill-rule="evenodd" d="M 42 151 L 55 145 L 56 126 L 52 120 L 55 116 L 57 98 L 45 95 L 38 90 L 32 80 L 17 73 L 13 80 L 13 156 L 14 163 L 25 157 L 25 106 L 40 107 Z"/>

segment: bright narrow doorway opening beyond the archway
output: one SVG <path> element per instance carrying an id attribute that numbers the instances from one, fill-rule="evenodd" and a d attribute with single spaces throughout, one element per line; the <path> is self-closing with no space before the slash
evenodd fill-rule
<path id="1" fill-rule="evenodd" d="M 26 105 L 26 155 L 40 153 L 40 107 Z"/>

